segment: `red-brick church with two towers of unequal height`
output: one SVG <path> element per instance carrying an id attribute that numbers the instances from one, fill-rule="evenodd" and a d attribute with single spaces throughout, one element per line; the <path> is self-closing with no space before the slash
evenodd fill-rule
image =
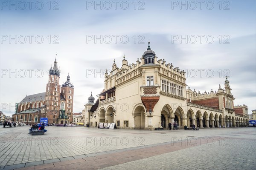
<path id="1" fill-rule="evenodd" d="M 45 92 L 26 95 L 17 103 L 13 121 L 25 124 L 39 123 L 40 118 L 48 118 L 49 124 L 69 124 L 73 121 L 74 86 L 70 83 L 69 75 L 67 81 L 60 85 L 60 74 L 55 58 L 54 66 L 49 69 Z"/>

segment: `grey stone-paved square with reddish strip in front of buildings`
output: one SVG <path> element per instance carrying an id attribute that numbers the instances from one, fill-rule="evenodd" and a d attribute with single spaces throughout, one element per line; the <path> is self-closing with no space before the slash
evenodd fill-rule
<path id="1" fill-rule="evenodd" d="M 255 169 L 256 128 L 109 130 L 0 127 L 0 170 Z M 186 166 L 187 165 L 187 166 Z"/>

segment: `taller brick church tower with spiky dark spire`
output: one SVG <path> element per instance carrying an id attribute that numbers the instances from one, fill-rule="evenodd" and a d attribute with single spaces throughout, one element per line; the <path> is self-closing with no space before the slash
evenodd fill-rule
<path id="1" fill-rule="evenodd" d="M 48 123 L 55 123 L 55 117 L 58 115 L 60 109 L 60 93 L 61 86 L 59 85 L 60 70 L 57 67 L 57 54 L 55 56 L 54 66 L 49 69 L 49 79 L 46 85 L 46 115 L 43 117 L 48 118 Z"/>

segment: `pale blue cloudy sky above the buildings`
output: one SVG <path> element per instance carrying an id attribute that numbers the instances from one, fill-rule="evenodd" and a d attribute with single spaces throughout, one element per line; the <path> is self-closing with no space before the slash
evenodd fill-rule
<path id="1" fill-rule="evenodd" d="M 74 112 L 104 88 L 103 72 L 147 49 L 185 70 L 200 92 L 224 87 L 256 109 L 256 3 L 230 1 L 0 1 L 0 103 L 6 115 L 45 92 L 57 53 L 60 84 L 74 84 Z M 188 88 L 188 86 L 186 88 Z"/>

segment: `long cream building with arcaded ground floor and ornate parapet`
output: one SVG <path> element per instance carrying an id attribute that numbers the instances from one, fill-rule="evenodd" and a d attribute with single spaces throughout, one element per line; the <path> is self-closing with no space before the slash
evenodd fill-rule
<path id="1" fill-rule="evenodd" d="M 105 72 L 105 88 L 96 102 L 89 97 L 84 105 L 84 120 L 93 127 L 113 122 L 119 128 L 145 130 L 167 128 L 169 123 L 180 128 L 247 126 L 247 106 L 238 106 L 242 109 L 236 113 L 227 78 L 223 87 L 216 84 L 217 91 L 201 93 L 186 89 L 185 74 L 158 59 L 148 42 L 136 63 L 128 64 L 124 56 L 118 68 L 114 61 L 111 71 Z"/>

